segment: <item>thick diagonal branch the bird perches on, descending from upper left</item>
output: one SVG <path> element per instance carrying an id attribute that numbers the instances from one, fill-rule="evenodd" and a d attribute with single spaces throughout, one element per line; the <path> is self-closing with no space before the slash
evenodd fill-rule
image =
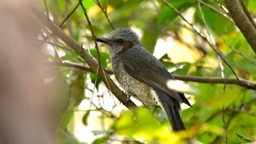
<path id="1" fill-rule="evenodd" d="M 82 45 L 79 45 L 78 42 L 75 42 L 74 39 L 69 37 L 62 29 L 59 28 L 52 20 L 46 17 L 46 15 L 41 12 L 37 7 L 33 7 L 34 15 L 38 20 L 52 31 L 53 35 L 59 37 L 63 42 L 69 45 L 70 48 L 75 50 L 78 55 L 83 58 L 84 61 L 89 65 L 91 70 L 101 77 L 102 81 L 105 83 L 105 86 L 116 96 L 116 98 L 127 108 L 131 109 L 132 107 L 137 107 L 131 100 L 127 100 L 127 94 L 124 94 L 118 86 L 111 80 L 111 78 L 106 74 L 102 69 L 99 69 L 98 61 L 96 61 L 86 50 L 83 49 Z"/>

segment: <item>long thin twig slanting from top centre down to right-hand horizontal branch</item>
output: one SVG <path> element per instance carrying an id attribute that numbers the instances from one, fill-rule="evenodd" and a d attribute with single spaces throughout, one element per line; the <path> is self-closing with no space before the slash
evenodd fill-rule
<path id="1" fill-rule="evenodd" d="M 233 67 L 231 67 L 231 65 L 230 65 L 229 62 L 225 59 L 225 57 L 222 56 L 222 53 L 220 53 L 218 49 L 214 48 L 214 46 L 211 45 L 211 42 L 209 42 L 208 39 L 200 32 L 200 30 L 197 28 L 197 26 L 193 25 L 192 23 L 189 23 L 189 21 L 188 21 L 186 18 L 184 18 L 183 15 L 181 15 L 181 12 L 178 12 L 178 10 L 176 10 L 176 8 L 173 7 L 172 5 L 170 5 L 167 1 L 165 1 L 165 0 L 162 0 L 162 1 L 164 1 L 165 4 L 166 4 L 168 7 L 170 7 L 170 9 L 172 9 L 174 12 L 176 12 L 176 14 L 179 15 L 179 16 L 182 18 L 182 20 L 184 20 L 187 24 L 189 24 L 189 26 L 191 26 L 192 29 L 194 29 L 194 31 L 195 31 L 200 37 L 202 37 L 202 38 L 208 43 L 208 45 L 211 46 L 211 48 L 215 51 L 215 53 L 217 53 L 217 55 L 220 56 L 220 58 L 222 58 L 222 61 L 224 61 L 225 64 L 227 64 L 227 67 L 229 67 L 229 68 L 231 69 L 231 71 L 233 72 L 233 74 L 236 76 L 236 79 L 239 80 L 240 78 L 238 77 L 238 75 L 236 75 L 236 72 L 235 72 L 235 70 L 233 69 Z"/>

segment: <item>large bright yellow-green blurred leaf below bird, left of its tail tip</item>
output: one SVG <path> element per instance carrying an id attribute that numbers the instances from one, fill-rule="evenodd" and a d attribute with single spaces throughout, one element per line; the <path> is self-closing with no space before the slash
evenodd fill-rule
<path id="1" fill-rule="evenodd" d="M 158 140 L 159 143 L 181 143 L 181 137 L 187 135 L 170 132 L 144 107 L 122 113 L 114 128 L 126 137 L 137 137 L 140 141 Z"/>

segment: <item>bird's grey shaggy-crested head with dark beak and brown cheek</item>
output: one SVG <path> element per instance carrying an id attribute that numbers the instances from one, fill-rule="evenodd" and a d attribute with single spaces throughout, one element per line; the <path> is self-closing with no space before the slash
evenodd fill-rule
<path id="1" fill-rule="evenodd" d="M 140 45 L 138 35 L 131 29 L 117 29 L 107 38 L 97 38 L 97 41 L 108 45 L 108 51 L 111 58 L 119 53 L 129 50 L 129 48 L 132 48 L 135 45 Z"/>

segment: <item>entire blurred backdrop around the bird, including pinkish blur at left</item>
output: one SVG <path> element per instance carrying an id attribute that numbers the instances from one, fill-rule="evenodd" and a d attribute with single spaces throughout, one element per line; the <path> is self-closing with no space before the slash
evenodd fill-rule
<path id="1" fill-rule="evenodd" d="M 244 4 L 255 19 L 256 1 Z M 192 103 L 181 105 L 187 130 L 171 132 L 162 110 L 153 113 L 133 98 L 140 108 L 129 110 L 85 58 L 32 12 L 34 3 L 15 0 L 0 2 L 0 143 L 256 140 L 256 56 L 224 1 L 37 0 L 35 5 L 95 60 L 100 56 L 117 86 L 108 50 L 93 39 L 114 29 L 136 31 L 143 47 L 175 75 L 170 87 Z"/>

